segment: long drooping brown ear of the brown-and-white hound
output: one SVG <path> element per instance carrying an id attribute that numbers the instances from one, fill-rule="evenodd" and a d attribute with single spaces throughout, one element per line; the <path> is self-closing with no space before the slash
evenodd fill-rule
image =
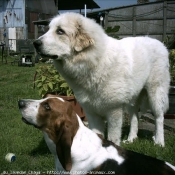
<path id="1" fill-rule="evenodd" d="M 76 113 L 69 104 L 63 119 L 58 120 L 56 123 L 56 151 L 58 158 L 66 171 L 70 171 L 72 168 L 71 146 L 73 137 L 75 136 L 77 130 L 78 120 Z"/>

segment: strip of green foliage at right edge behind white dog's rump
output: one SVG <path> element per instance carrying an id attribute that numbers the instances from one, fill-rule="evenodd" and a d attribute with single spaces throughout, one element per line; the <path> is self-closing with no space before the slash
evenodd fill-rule
<path id="1" fill-rule="evenodd" d="M 175 85 L 175 49 L 172 49 L 169 54 L 171 85 Z"/>

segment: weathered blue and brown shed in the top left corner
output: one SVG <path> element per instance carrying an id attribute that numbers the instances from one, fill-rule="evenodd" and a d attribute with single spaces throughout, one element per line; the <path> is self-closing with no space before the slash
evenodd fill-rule
<path id="1" fill-rule="evenodd" d="M 34 39 L 33 21 L 48 19 L 57 13 L 57 0 L 0 0 L 0 42 L 5 41 L 16 51 L 18 40 Z M 39 26 L 39 32 L 45 33 L 45 30 L 45 26 Z"/>

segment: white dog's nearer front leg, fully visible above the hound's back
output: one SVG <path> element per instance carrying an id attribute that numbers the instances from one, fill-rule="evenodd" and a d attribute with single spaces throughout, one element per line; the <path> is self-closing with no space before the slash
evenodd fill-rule
<path id="1" fill-rule="evenodd" d="M 123 122 L 123 109 L 117 108 L 110 111 L 107 115 L 108 122 L 108 139 L 117 145 L 120 145 L 122 122 Z"/>

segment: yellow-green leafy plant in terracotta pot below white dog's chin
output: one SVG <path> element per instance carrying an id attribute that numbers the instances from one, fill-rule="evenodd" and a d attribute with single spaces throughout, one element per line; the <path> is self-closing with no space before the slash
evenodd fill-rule
<path id="1" fill-rule="evenodd" d="M 42 97 L 48 92 L 65 96 L 73 95 L 72 89 L 53 65 L 38 67 L 35 83 Z"/>

